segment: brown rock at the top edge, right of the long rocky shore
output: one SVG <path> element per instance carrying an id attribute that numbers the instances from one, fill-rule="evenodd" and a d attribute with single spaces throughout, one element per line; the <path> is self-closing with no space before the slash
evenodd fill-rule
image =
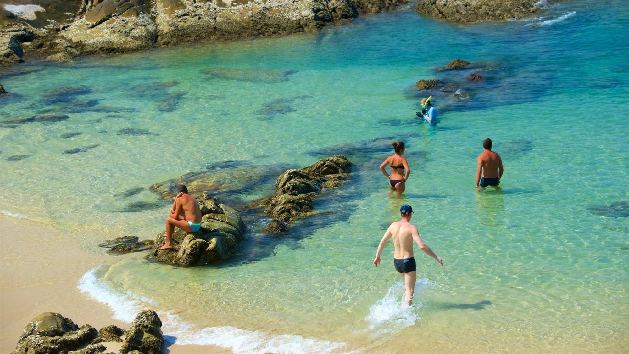
<path id="1" fill-rule="evenodd" d="M 415 11 L 456 23 L 505 21 L 539 11 L 536 3 L 537 0 L 420 0 Z"/>

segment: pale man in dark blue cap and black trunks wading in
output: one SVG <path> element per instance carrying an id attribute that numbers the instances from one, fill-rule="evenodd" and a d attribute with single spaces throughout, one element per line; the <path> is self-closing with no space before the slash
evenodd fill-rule
<path id="1" fill-rule="evenodd" d="M 406 285 L 406 292 L 404 295 L 404 304 L 411 305 L 413 303 L 413 293 L 415 293 L 415 282 L 417 280 L 417 267 L 415 265 L 415 258 L 413 257 L 413 241 L 424 251 L 428 256 L 435 258 L 441 266 L 443 266 L 443 260 L 437 257 L 430 247 L 421 241 L 417 227 L 411 224 L 411 217 L 413 217 L 413 208 L 410 205 L 402 205 L 399 208 L 399 214 L 402 219 L 389 225 L 387 232 L 384 232 L 384 236 L 380 240 L 378 250 L 376 251 L 376 259 L 374 265 L 380 264 L 380 254 L 382 249 L 386 246 L 389 237 L 393 236 L 394 260 L 393 265 L 399 275 L 404 278 L 404 284 Z"/>

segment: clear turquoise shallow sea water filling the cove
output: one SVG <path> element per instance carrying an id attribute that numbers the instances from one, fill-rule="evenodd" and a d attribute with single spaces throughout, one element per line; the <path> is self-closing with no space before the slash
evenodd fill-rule
<path id="1" fill-rule="evenodd" d="M 252 232 L 218 268 L 110 258 L 82 288 L 124 304 L 120 317 L 161 309 L 171 341 L 235 351 L 408 351 L 419 336 L 426 351 L 626 350 L 629 222 L 591 208 L 629 200 L 629 6 L 596 4 L 470 26 L 401 10 L 316 34 L 3 69 L 0 82 L 21 96 L 0 101 L 3 120 L 69 119 L 0 127 L 0 210 L 82 232 L 97 251 L 103 239 L 163 229 L 167 206 L 146 190 L 152 183 L 226 160 L 305 166 L 349 144 L 353 179 L 286 237 Z M 454 58 L 497 63 L 504 77 L 471 104 L 435 101 L 442 123 L 426 127 L 410 86 Z M 202 72 L 211 68 L 220 77 Z M 87 86 L 73 100 L 99 111 L 67 113 L 46 96 L 68 86 Z M 82 134 L 62 139 L 72 133 Z M 472 188 L 487 136 L 504 160 L 502 193 Z M 384 149 L 365 142 L 389 137 L 403 137 L 413 169 L 402 199 L 386 196 L 377 171 L 392 139 L 378 140 Z M 16 155 L 29 156 L 7 160 Z M 158 205 L 119 212 L 130 202 Z M 392 247 L 371 265 L 401 203 L 445 261 L 416 254 L 425 280 L 410 309 L 395 305 Z"/>

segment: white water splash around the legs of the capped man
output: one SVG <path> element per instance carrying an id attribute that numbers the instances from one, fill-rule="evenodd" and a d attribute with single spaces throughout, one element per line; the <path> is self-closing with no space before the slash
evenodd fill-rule
<path id="1" fill-rule="evenodd" d="M 396 282 L 387 291 L 384 297 L 369 307 L 369 314 L 365 321 L 369 322 L 369 330 L 376 335 L 399 332 L 404 328 L 413 326 L 420 319 L 421 309 L 420 295 L 435 283 L 423 278 L 415 283 L 415 295 L 410 306 L 402 303 L 404 294 L 404 282 Z"/>

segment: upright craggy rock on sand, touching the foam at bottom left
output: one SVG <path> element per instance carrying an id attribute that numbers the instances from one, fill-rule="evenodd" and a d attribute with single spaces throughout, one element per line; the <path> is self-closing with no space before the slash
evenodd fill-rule
<path id="1" fill-rule="evenodd" d="M 126 333 L 125 343 L 120 351 L 128 353 L 134 350 L 144 354 L 162 354 L 164 350 L 162 321 L 155 311 L 140 311 L 131 323 L 131 329 Z"/>

